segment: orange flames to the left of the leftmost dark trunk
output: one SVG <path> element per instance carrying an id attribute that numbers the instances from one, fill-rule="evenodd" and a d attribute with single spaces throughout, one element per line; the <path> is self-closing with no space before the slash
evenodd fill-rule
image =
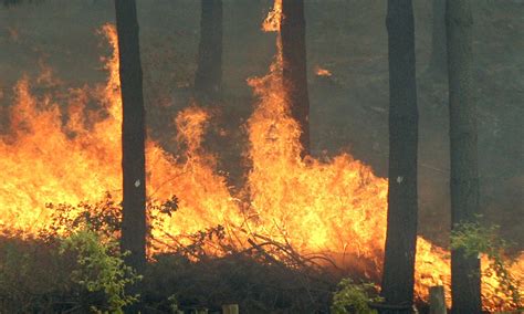
<path id="1" fill-rule="evenodd" d="M 109 64 L 111 76 L 117 75 L 116 64 Z M 46 84 L 49 75 L 45 70 L 38 81 Z M 117 85 L 70 91 L 69 119 L 63 122 L 60 105 L 51 95 L 33 95 L 31 83 L 23 77 L 15 85 L 10 133 L 0 140 L 4 169 L 0 175 L 0 223 L 28 232 L 46 223 L 46 202 L 97 199 L 105 190 L 117 191 L 120 186 L 119 155 L 115 154 L 120 145 L 118 113 L 108 112 L 104 121 L 95 114 L 87 119 L 83 114 L 93 97 L 102 106 L 116 107 L 112 104 L 119 96 L 114 90 Z M 99 122 L 88 125 L 87 121 Z"/>

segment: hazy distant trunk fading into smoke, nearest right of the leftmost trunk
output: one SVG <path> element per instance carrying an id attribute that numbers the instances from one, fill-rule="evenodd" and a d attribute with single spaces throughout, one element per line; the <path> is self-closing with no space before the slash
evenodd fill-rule
<path id="1" fill-rule="evenodd" d="M 195 92 L 205 102 L 214 102 L 222 90 L 222 0 L 201 0 L 200 44 Z"/>

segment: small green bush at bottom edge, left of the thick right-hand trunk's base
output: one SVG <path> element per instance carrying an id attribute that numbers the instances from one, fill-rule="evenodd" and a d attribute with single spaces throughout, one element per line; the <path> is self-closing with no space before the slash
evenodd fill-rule
<path id="1" fill-rule="evenodd" d="M 355 283 L 352 279 L 343 279 L 333 294 L 332 312 L 335 314 L 375 314 L 369 303 L 381 302 L 373 283 Z"/>

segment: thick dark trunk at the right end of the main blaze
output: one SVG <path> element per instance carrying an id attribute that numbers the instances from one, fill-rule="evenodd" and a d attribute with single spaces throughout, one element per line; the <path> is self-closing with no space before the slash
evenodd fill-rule
<path id="1" fill-rule="evenodd" d="M 389 190 L 381 295 L 411 307 L 417 243 L 418 109 L 411 0 L 389 0 Z M 384 312 L 389 313 L 389 312 Z M 396 313 L 411 313 L 405 310 Z"/>

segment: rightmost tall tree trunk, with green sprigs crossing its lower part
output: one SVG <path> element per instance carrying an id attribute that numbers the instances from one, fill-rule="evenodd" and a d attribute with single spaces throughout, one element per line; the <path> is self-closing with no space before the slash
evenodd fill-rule
<path id="1" fill-rule="evenodd" d="M 479 212 L 476 109 L 472 86 L 473 17 L 468 0 L 448 0 L 446 11 L 451 151 L 451 223 L 470 222 Z M 481 313 L 480 260 L 451 251 L 453 313 Z"/>

